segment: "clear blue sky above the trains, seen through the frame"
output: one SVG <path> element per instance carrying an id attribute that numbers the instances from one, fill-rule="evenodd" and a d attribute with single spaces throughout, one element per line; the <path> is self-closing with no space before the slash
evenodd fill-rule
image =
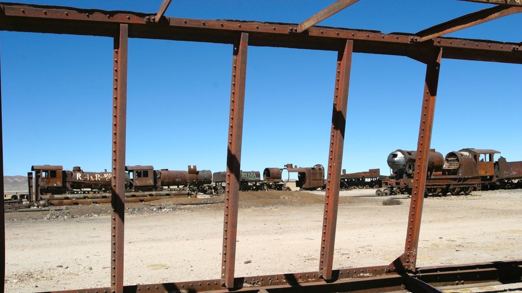
<path id="1" fill-rule="evenodd" d="M 299 23 L 331 1 L 173 0 L 165 15 Z M 161 0 L 28 1 L 156 13 Z M 415 33 L 491 5 L 362 0 L 322 26 Z M 522 41 L 522 15 L 448 36 Z M 0 32 L 4 174 L 31 165 L 111 167 L 112 39 Z M 248 48 L 242 169 L 327 163 L 335 52 Z M 212 172 L 227 154 L 232 46 L 129 40 L 126 165 Z M 522 160 L 521 65 L 443 59 L 432 148 L 495 149 Z M 354 54 L 343 168 L 381 168 L 416 149 L 425 65 Z"/>

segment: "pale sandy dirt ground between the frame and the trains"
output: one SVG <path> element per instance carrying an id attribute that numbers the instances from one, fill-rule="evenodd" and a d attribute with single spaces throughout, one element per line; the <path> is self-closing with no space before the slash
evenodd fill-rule
<path id="1" fill-rule="evenodd" d="M 385 265 L 404 251 L 409 198 L 385 206 L 390 197 L 374 193 L 341 191 L 334 268 Z M 317 271 L 323 199 L 241 192 L 235 275 Z M 522 259 L 521 212 L 520 189 L 426 198 L 417 266 Z M 5 292 L 109 286 L 109 215 L 109 204 L 6 213 Z M 219 278 L 222 221 L 219 196 L 127 204 L 125 285 Z"/>

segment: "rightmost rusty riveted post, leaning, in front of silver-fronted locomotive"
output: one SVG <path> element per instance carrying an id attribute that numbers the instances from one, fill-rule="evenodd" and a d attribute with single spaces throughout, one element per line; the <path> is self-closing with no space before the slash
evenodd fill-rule
<path id="1" fill-rule="evenodd" d="M 417 248 L 424 201 L 424 187 L 428 175 L 428 156 L 430 153 L 435 101 L 437 99 L 438 73 L 441 68 L 442 48 L 433 52 L 426 65 L 426 78 L 422 97 L 419 138 L 417 141 L 417 157 L 415 173 L 413 175 L 413 189 L 411 193 L 408 228 L 406 234 L 405 253 L 407 255 L 407 270 L 415 271 L 417 262 Z"/>

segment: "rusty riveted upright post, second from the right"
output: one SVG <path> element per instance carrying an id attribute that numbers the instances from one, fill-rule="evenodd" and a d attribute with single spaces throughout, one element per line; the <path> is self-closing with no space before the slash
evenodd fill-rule
<path id="1" fill-rule="evenodd" d="M 331 115 L 328 174 L 326 176 L 323 234 L 321 235 L 321 255 L 319 257 L 319 276 L 326 280 L 331 279 L 334 261 L 335 231 L 339 206 L 342 151 L 345 143 L 346 108 L 348 105 L 352 51 L 353 41 L 347 40 L 343 42 L 337 55 L 334 109 Z"/>

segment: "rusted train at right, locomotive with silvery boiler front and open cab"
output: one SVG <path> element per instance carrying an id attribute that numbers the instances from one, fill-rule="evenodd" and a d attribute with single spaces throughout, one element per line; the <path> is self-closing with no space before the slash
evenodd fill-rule
<path id="1" fill-rule="evenodd" d="M 445 157 L 430 150 L 424 194 L 470 194 L 473 190 L 522 188 L 522 162 L 495 161 L 495 150 L 462 149 Z M 387 163 L 393 175 L 383 181 L 384 189 L 375 193 L 411 194 L 416 151 L 396 150 L 388 155 Z"/>

